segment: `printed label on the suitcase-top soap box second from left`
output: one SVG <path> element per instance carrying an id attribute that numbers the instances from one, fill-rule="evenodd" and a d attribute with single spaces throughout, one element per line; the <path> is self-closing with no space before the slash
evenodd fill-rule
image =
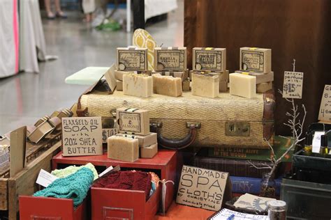
<path id="1" fill-rule="evenodd" d="M 156 50 L 157 70 L 184 70 L 184 50 L 161 49 Z"/>

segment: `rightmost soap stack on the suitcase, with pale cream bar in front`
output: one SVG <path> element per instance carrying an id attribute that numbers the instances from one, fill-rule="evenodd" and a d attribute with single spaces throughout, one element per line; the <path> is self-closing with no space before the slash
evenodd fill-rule
<path id="1" fill-rule="evenodd" d="M 240 70 L 230 74 L 230 94 L 255 97 L 272 89 L 271 49 L 240 48 Z"/>

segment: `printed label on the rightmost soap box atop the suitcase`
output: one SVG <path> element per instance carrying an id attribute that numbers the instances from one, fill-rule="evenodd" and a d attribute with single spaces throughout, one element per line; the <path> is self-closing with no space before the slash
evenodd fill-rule
<path id="1" fill-rule="evenodd" d="M 263 72 L 264 52 L 242 50 L 242 70 Z"/>

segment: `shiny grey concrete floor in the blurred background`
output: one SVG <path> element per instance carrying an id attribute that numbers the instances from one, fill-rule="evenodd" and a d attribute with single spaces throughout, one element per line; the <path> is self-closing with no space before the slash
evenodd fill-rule
<path id="1" fill-rule="evenodd" d="M 91 29 L 82 23 L 80 12 L 68 13 L 68 19 L 43 20 L 47 54 L 57 61 L 39 63 L 39 74 L 22 72 L 0 79 L 0 135 L 22 125 L 33 125 L 38 118 L 54 110 L 71 107 L 87 86 L 68 85 L 64 79 L 87 66 L 108 67 L 115 63 L 115 49 L 131 45 L 133 33 Z M 147 26 L 158 45 L 182 46 L 184 6 L 169 13 L 168 19 Z"/>

